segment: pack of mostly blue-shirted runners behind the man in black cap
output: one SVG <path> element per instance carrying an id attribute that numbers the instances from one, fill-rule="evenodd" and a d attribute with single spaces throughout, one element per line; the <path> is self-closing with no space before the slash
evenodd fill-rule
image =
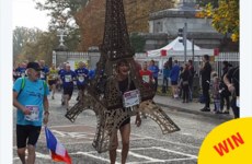
<path id="1" fill-rule="evenodd" d="M 84 90 L 85 84 L 88 83 L 88 79 L 93 79 L 95 74 L 95 69 L 88 69 L 88 66 L 80 61 L 79 68 L 72 71 L 70 69 L 70 65 L 68 62 L 59 63 L 58 68 L 56 68 L 55 63 L 48 68 L 45 66 L 44 60 L 35 61 L 39 65 L 43 70 L 41 71 L 41 80 L 47 82 L 49 86 L 49 92 L 51 92 L 51 99 L 55 99 L 56 90 L 61 91 L 61 105 L 65 105 L 66 109 L 69 108 L 69 101 L 71 99 L 71 95 L 73 92 L 73 81 L 76 81 L 77 87 L 79 90 L 77 101 L 82 95 L 82 91 Z M 16 68 L 13 69 L 13 81 L 19 78 L 27 77 L 28 60 L 25 60 L 23 63 L 19 63 Z"/>

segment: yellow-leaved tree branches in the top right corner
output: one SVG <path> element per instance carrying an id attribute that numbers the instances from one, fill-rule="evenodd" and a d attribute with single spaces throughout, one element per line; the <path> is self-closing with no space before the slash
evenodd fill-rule
<path id="1" fill-rule="evenodd" d="M 214 8 L 208 3 L 202 11 L 196 13 L 199 17 L 213 17 L 211 25 L 217 32 L 231 33 L 232 42 L 239 40 L 239 0 L 219 0 L 219 7 Z"/>

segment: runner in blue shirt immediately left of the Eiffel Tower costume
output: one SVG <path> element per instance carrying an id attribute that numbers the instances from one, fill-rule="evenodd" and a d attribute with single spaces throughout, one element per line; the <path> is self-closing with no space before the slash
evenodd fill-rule
<path id="1" fill-rule="evenodd" d="M 77 101 L 79 101 L 79 97 L 82 97 L 82 92 L 84 91 L 84 86 L 87 84 L 87 77 L 89 73 L 89 70 L 84 68 L 84 62 L 79 62 L 79 68 L 76 69 L 76 75 L 77 75 L 77 86 L 79 90 L 79 94 L 77 97 Z"/>

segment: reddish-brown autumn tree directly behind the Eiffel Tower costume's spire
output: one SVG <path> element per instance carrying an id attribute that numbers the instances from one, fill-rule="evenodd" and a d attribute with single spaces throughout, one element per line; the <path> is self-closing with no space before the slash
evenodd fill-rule
<path id="1" fill-rule="evenodd" d="M 102 44 L 105 23 L 105 0 L 92 0 L 85 8 L 76 13 L 81 28 L 81 43 L 78 50 Z M 133 32 L 149 32 L 149 14 L 173 8 L 170 0 L 124 0 L 127 28 Z"/>

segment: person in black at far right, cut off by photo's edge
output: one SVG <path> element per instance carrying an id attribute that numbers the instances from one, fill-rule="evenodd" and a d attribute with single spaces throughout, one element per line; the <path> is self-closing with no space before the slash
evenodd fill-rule
<path id="1" fill-rule="evenodd" d="M 234 114 L 234 118 L 240 118 L 240 68 L 239 66 L 229 69 L 228 73 L 224 77 L 224 82 L 228 86 L 230 92 L 233 92 L 231 107 Z M 230 81 L 232 80 L 232 83 Z"/>

